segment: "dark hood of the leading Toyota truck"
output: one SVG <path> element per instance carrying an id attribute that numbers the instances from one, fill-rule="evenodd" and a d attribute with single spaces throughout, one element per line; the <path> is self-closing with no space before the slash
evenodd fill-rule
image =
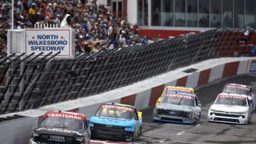
<path id="1" fill-rule="evenodd" d="M 85 131 L 82 133 L 82 131 L 74 131 L 65 128 L 36 128 L 34 131 L 41 134 L 62 135 L 68 137 L 80 136 L 85 133 Z"/>

